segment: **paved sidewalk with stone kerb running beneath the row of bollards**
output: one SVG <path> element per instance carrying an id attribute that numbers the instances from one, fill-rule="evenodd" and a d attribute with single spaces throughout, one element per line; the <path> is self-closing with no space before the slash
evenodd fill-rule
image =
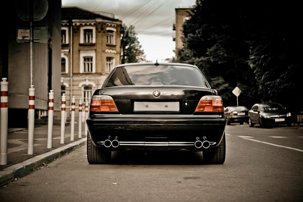
<path id="1" fill-rule="evenodd" d="M 71 125 L 65 126 L 65 143 L 60 143 L 61 125 L 53 125 L 53 148 L 47 148 L 47 125 L 36 125 L 34 129 L 34 154 L 28 155 L 28 129 L 8 129 L 8 163 L 0 165 L 0 186 L 16 178 L 23 177 L 39 167 L 68 154 L 70 151 L 84 146 L 85 125 L 82 123 L 82 137 L 78 138 L 78 123 L 75 123 L 74 140 L 70 140 Z"/>

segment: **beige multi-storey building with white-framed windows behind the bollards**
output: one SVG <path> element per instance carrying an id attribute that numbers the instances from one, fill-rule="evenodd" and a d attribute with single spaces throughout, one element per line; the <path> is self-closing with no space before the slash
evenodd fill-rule
<path id="1" fill-rule="evenodd" d="M 83 106 L 86 100 L 89 103 L 110 71 L 121 64 L 122 22 L 79 8 L 62 8 L 61 25 L 61 94 L 66 94 L 69 118 L 72 96 L 76 108 L 80 98 Z"/>

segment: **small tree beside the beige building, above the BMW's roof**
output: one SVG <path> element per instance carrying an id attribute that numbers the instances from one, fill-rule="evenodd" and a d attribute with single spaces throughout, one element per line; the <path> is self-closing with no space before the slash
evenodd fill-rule
<path id="1" fill-rule="evenodd" d="M 138 41 L 137 34 L 134 26 L 127 27 L 122 25 L 121 33 L 123 34 L 121 46 L 123 48 L 123 56 L 121 63 L 137 63 L 145 61 L 144 51 L 140 42 Z"/>

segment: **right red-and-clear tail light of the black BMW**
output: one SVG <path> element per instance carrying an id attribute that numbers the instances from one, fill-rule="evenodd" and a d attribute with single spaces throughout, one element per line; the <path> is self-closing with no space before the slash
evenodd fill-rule
<path id="1" fill-rule="evenodd" d="M 194 112 L 224 112 L 221 96 L 207 95 L 203 96 Z"/>

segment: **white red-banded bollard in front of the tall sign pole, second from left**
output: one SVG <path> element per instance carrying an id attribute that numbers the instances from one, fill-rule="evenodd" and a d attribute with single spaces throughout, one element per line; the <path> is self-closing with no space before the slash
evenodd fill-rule
<path id="1" fill-rule="evenodd" d="M 34 128 L 35 128 L 35 88 L 30 85 L 28 96 L 28 148 L 27 154 L 34 154 Z"/>

